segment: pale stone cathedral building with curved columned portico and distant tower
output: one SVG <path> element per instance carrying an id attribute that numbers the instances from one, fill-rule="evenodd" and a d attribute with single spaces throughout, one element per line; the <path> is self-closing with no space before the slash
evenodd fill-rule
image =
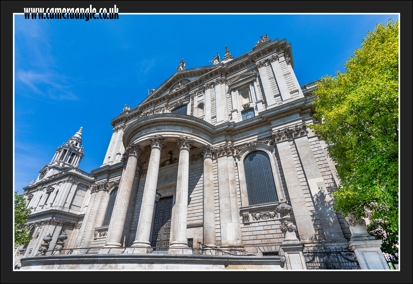
<path id="1" fill-rule="evenodd" d="M 182 59 L 138 106 L 125 105 L 111 122 L 102 166 L 90 174 L 77 168 L 81 130 L 56 149 L 24 188 L 36 237 L 18 250 L 22 268 L 85 268 L 85 255 L 98 253 L 107 259 L 100 268 L 165 269 L 180 254 L 175 268 L 259 261 L 255 268 L 306 269 L 304 246 L 348 245 L 354 232 L 332 213 L 328 195 L 337 187 L 335 165 L 306 128 L 318 123 L 316 82 L 300 87 L 291 44 L 261 36 L 251 51 L 234 58 L 226 47 L 222 61 L 217 53 L 210 62 L 185 69 Z M 64 231 L 67 250 L 55 256 Z M 30 258 L 49 233 L 49 251 Z M 198 248 L 218 256 L 191 263 Z M 235 254 L 229 266 L 224 252 Z"/>

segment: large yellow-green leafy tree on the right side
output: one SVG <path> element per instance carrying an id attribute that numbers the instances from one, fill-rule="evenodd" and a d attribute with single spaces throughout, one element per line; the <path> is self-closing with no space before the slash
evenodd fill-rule
<path id="1" fill-rule="evenodd" d="M 357 211 L 397 251 L 399 230 L 399 21 L 377 24 L 337 76 L 325 76 L 313 95 L 321 123 L 310 126 L 328 144 L 341 185 L 335 210 Z"/>

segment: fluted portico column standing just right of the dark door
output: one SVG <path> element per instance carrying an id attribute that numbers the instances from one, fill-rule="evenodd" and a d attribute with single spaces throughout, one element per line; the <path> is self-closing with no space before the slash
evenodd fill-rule
<path id="1" fill-rule="evenodd" d="M 169 253 L 192 254 L 192 250 L 171 249 L 174 247 L 188 248 L 186 238 L 187 212 L 188 212 L 188 181 L 189 181 L 189 149 L 193 139 L 180 136 L 178 139 L 179 163 L 178 178 L 176 180 L 176 198 L 172 222 L 172 241 Z"/>

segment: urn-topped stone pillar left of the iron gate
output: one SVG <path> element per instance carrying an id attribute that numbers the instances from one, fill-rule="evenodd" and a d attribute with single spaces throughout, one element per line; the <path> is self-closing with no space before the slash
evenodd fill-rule
<path id="1" fill-rule="evenodd" d="M 275 208 L 278 214 L 280 214 L 280 229 L 284 233 L 284 240 L 280 248 L 285 253 L 285 264 L 288 270 L 299 269 L 306 270 L 306 261 L 303 255 L 304 245 L 300 243 L 295 232 L 297 227 L 293 224 L 293 218 L 290 216 L 292 207 L 287 204 L 286 201 L 281 200 L 280 204 Z"/>

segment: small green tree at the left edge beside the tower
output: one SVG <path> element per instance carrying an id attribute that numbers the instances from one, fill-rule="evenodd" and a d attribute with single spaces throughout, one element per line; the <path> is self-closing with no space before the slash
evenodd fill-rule
<path id="1" fill-rule="evenodd" d="M 26 244 L 33 237 L 29 236 L 30 231 L 24 230 L 27 217 L 31 214 L 33 207 L 26 208 L 26 199 L 23 194 L 14 192 L 14 248 Z"/>

